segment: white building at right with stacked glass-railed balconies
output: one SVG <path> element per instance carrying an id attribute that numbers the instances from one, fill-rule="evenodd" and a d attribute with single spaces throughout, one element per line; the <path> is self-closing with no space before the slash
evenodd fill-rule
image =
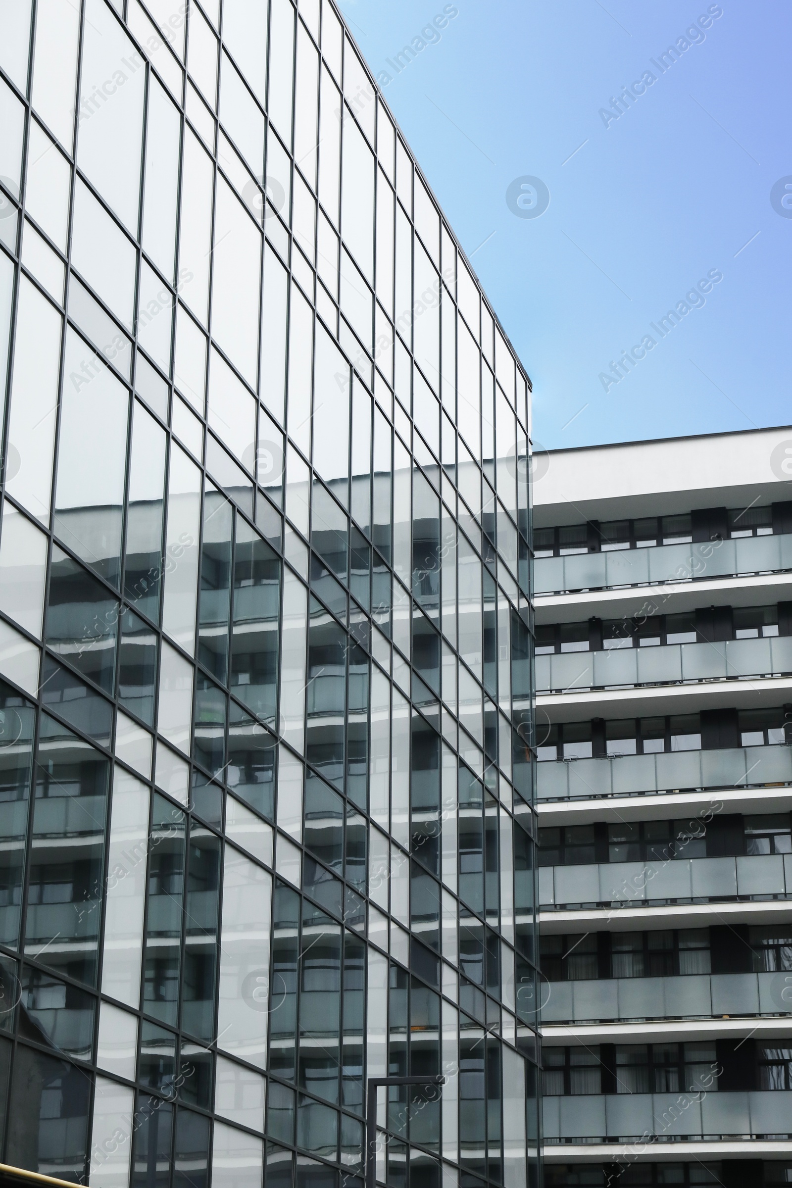
<path id="1" fill-rule="evenodd" d="M 787 426 L 537 465 L 552 1188 L 792 1182 L 790 456 Z"/>

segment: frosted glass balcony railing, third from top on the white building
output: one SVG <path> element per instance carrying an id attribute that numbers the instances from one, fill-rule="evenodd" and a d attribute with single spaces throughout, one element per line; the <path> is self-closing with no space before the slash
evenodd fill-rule
<path id="1" fill-rule="evenodd" d="M 790 746 L 671 751 L 537 764 L 537 795 L 544 801 L 778 784 L 792 784 Z"/>

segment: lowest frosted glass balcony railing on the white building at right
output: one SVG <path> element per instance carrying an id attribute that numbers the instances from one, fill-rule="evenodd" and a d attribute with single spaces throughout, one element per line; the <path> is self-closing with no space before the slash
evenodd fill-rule
<path id="1" fill-rule="evenodd" d="M 544 1099 L 545 1143 L 660 1142 L 674 1138 L 785 1138 L 792 1135 L 792 1093 L 721 1093 L 705 1087 L 677 1093 L 579 1094 Z M 698 1082 L 697 1082 L 698 1083 Z M 716 1082 L 711 1082 L 716 1083 Z"/>

